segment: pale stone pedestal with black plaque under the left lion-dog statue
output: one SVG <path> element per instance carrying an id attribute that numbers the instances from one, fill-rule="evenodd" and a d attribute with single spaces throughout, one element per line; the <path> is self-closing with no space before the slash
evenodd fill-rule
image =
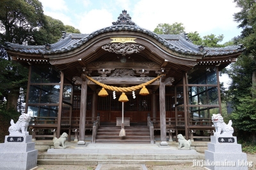
<path id="1" fill-rule="evenodd" d="M 36 167 L 38 151 L 32 135 L 6 135 L 0 144 L 0 169 L 28 170 Z"/>

